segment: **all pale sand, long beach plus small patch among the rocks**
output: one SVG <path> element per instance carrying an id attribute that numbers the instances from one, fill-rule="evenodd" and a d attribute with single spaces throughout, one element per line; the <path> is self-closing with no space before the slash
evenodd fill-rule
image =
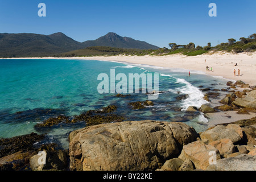
<path id="1" fill-rule="evenodd" d="M 242 80 L 250 86 L 256 85 L 256 52 L 254 53 L 212 53 L 199 56 L 184 56 L 180 54 L 168 56 L 92 56 L 92 57 L 21 57 L 10 59 L 68 59 L 68 60 L 99 60 L 117 61 L 118 63 L 151 65 L 162 68 L 185 69 L 187 72 L 207 74 L 218 78 L 226 78 L 227 81 Z M 237 66 L 235 66 L 237 64 Z M 207 71 L 206 67 L 212 68 Z M 241 76 L 234 76 L 234 69 L 241 70 Z M 221 104 L 220 104 L 221 105 Z M 227 117 L 228 116 L 228 117 Z M 240 119 L 255 117 L 255 113 L 250 115 L 236 114 L 236 111 L 220 111 L 207 114 L 209 122 L 207 125 L 213 126 L 220 123 L 232 123 Z"/>

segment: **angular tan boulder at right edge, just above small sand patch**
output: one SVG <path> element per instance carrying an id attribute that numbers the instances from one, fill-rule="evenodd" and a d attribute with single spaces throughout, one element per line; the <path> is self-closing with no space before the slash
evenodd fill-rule
<path id="1" fill-rule="evenodd" d="M 251 107 L 256 109 L 256 90 L 248 92 L 244 98 L 237 98 L 233 104 L 239 107 Z"/>

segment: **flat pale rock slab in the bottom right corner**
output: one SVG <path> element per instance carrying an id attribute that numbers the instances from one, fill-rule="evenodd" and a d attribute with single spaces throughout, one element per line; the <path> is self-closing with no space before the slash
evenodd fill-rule
<path id="1" fill-rule="evenodd" d="M 236 157 L 217 160 L 217 164 L 207 167 L 216 171 L 255 171 L 256 155 L 241 154 Z"/>

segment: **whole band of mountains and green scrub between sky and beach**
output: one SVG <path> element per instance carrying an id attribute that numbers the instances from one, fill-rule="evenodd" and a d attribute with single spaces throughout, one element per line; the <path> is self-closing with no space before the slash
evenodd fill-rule
<path id="1" fill-rule="evenodd" d="M 194 43 L 179 45 L 170 43 L 170 48 L 158 48 L 146 42 L 119 36 L 113 32 L 96 40 L 77 42 L 58 32 L 52 35 L 39 34 L 0 34 L 0 57 L 77 57 L 77 56 L 165 56 L 180 53 L 196 56 L 208 52 L 254 52 L 256 51 L 256 34 L 240 41 L 230 38 L 227 43 L 212 47 L 195 46 Z"/>

